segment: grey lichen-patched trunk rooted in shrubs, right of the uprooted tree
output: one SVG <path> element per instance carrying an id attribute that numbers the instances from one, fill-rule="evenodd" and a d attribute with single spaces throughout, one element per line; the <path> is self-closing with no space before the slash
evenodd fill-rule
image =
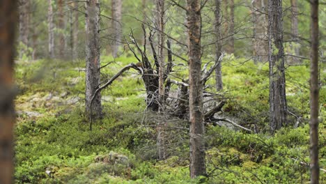
<path id="1" fill-rule="evenodd" d="M 270 130 L 286 125 L 286 80 L 283 48 L 283 11 L 281 0 L 270 0 L 268 6 L 270 62 Z"/>

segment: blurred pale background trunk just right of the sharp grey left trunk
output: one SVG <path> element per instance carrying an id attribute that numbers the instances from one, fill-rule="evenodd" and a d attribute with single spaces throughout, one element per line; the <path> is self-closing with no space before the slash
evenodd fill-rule
<path id="1" fill-rule="evenodd" d="M 112 55 L 114 57 L 118 56 L 119 47 L 121 45 L 121 32 L 122 32 L 122 0 L 111 1 L 112 8 L 112 26 L 114 40 L 112 43 Z"/>

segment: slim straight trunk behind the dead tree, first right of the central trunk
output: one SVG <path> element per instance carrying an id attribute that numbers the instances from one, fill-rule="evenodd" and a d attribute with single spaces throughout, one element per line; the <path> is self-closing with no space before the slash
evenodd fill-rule
<path id="1" fill-rule="evenodd" d="M 222 42 L 221 42 L 221 25 L 222 25 L 222 0 L 215 0 L 215 62 L 219 61 L 219 56 L 222 54 Z M 215 69 L 215 83 L 217 91 L 223 89 L 222 83 L 222 65 L 219 63 Z"/>

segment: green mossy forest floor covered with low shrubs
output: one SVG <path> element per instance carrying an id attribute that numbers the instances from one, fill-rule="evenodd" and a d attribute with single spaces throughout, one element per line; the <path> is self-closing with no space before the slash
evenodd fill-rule
<path id="1" fill-rule="evenodd" d="M 102 56 L 102 65 L 113 61 Z M 115 59 L 102 81 L 133 62 Z M 232 125 L 206 126 L 207 178 L 189 178 L 187 121 L 146 111 L 136 71 L 125 72 L 102 91 L 104 118 L 89 130 L 84 117 L 84 63 L 17 61 L 20 93 L 15 100 L 15 183 L 307 183 L 309 181 L 309 63 L 286 70 L 287 128 L 271 136 L 268 125 L 268 66 L 228 56 L 223 66 L 226 98 L 219 116 Z M 324 66 L 325 68 L 325 66 Z M 186 77 L 182 68 L 177 77 Z M 322 70 L 321 79 L 326 72 Z M 324 81 L 325 82 L 325 81 Z M 214 80 L 208 82 L 214 86 Z M 172 88 L 176 90 L 176 86 Z M 215 92 L 212 90 L 212 92 Z M 320 89 L 320 119 L 326 115 Z M 166 160 L 157 159 L 158 121 L 166 121 Z M 297 126 L 297 128 L 293 128 Z M 326 183 L 326 130 L 321 121 L 320 171 Z"/>

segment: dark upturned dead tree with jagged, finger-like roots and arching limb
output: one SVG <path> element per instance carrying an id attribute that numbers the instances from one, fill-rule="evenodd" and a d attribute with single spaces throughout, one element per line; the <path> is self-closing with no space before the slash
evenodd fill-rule
<path id="1" fill-rule="evenodd" d="M 143 79 L 143 84 L 146 89 L 146 105 L 147 108 L 152 110 L 153 112 L 158 112 L 158 109 L 160 105 L 164 105 L 165 113 L 170 114 L 171 116 L 178 116 L 179 118 L 188 118 L 187 114 L 189 113 L 189 79 L 183 79 L 183 81 L 177 81 L 175 79 L 170 79 L 169 75 L 173 70 L 173 56 L 178 57 L 179 59 L 187 62 L 187 59 L 184 59 L 182 56 L 178 56 L 178 54 L 175 54 L 171 50 L 171 43 L 169 40 L 166 42 L 166 47 L 164 49 L 167 49 L 167 64 L 164 68 L 164 101 L 162 104 L 159 102 L 159 61 L 157 59 L 157 52 L 155 49 L 155 43 L 153 42 L 153 36 L 155 34 L 155 31 L 151 29 L 149 36 L 147 38 L 146 29 L 145 26 L 142 25 L 145 42 L 142 46 L 140 46 L 136 39 L 133 36 L 133 33 L 131 31 L 129 37 L 130 40 L 125 39 L 125 43 L 127 43 L 127 46 L 130 49 L 130 52 L 134 54 L 135 59 L 137 59 L 138 63 L 130 63 L 130 65 L 125 66 L 121 69 L 120 72 L 118 72 L 114 77 L 111 77 L 111 79 L 108 79 L 107 83 L 103 84 L 102 86 L 98 86 L 98 89 L 93 94 L 93 98 L 91 102 L 94 100 L 94 96 L 97 95 L 102 89 L 106 88 L 107 86 L 111 85 L 112 82 L 116 78 L 118 78 L 125 70 L 129 70 L 130 68 L 133 68 L 134 70 L 137 70 L 139 74 L 141 74 L 141 78 Z M 146 41 L 149 41 L 150 43 L 150 49 L 151 53 L 148 52 L 146 49 Z M 150 56 L 150 54 L 152 54 Z M 201 80 L 203 84 L 203 88 L 205 86 L 205 83 L 208 81 L 209 77 L 212 75 L 212 72 L 215 71 L 215 68 L 217 65 L 222 61 L 224 54 L 222 54 L 219 59 L 216 60 L 216 62 L 212 65 L 211 68 L 208 68 L 208 64 L 206 64 L 203 67 L 203 70 L 201 72 Z M 178 86 L 178 97 L 174 97 L 171 94 L 171 85 L 177 85 Z M 172 98 L 173 102 L 167 103 L 166 100 L 168 98 Z M 93 106 L 93 105 L 92 105 Z M 218 112 L 219 110 L 216 109 Z"/>

